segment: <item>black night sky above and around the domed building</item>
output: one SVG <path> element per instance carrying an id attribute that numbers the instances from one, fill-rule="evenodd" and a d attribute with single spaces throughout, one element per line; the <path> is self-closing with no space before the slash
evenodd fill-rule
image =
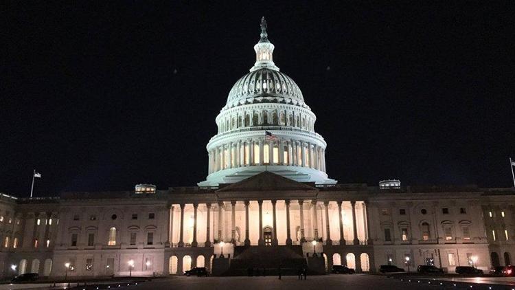
<path id="1" fill-rule="evenodd" d="M 261 16 L 330 177 L 512 186 L 515 3 L 176 2 L 3 3 L 0 192 L 34 168 L 36 196 L 205 180 Z"/>

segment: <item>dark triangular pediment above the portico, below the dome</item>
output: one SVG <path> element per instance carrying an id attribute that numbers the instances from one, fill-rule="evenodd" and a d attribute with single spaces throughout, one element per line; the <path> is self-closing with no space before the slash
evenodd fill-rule
<path id="1" fill-rule="evenodd" d="M 300 183 L 275 173 L 264 171 L 243 179 L 238 183 L 223 186 L 217 192 L 282 191 L 282 190 L 318 190 L 306 183 Z"/>

